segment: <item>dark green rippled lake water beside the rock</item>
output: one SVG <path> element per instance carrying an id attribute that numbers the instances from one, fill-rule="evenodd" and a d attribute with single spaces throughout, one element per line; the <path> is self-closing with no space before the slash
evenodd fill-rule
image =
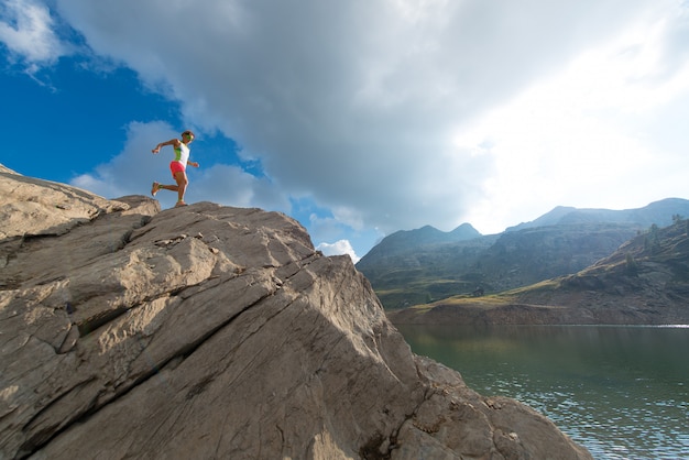
<path id="1" fill-rule="evenodd" d="M 482 395 L 547 415 L 595 459 L 689 459 L 689 327 L 401 326 Z"/>

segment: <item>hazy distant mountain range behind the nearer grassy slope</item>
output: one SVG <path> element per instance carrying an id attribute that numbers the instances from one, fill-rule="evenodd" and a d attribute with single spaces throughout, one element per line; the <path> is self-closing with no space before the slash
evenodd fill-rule
<path id="1" fill-rule="evenodd" d="M 409 243 L 395 251 L 375 247 L 357 269 L 369 278 L 386 309 L 405 308 L 576 273 L 653 223 L 668 224 L 678 215 L 689 215 L 689 200 L 669 198 L 622 211 L 558 207 L 500 234 Z"/>

